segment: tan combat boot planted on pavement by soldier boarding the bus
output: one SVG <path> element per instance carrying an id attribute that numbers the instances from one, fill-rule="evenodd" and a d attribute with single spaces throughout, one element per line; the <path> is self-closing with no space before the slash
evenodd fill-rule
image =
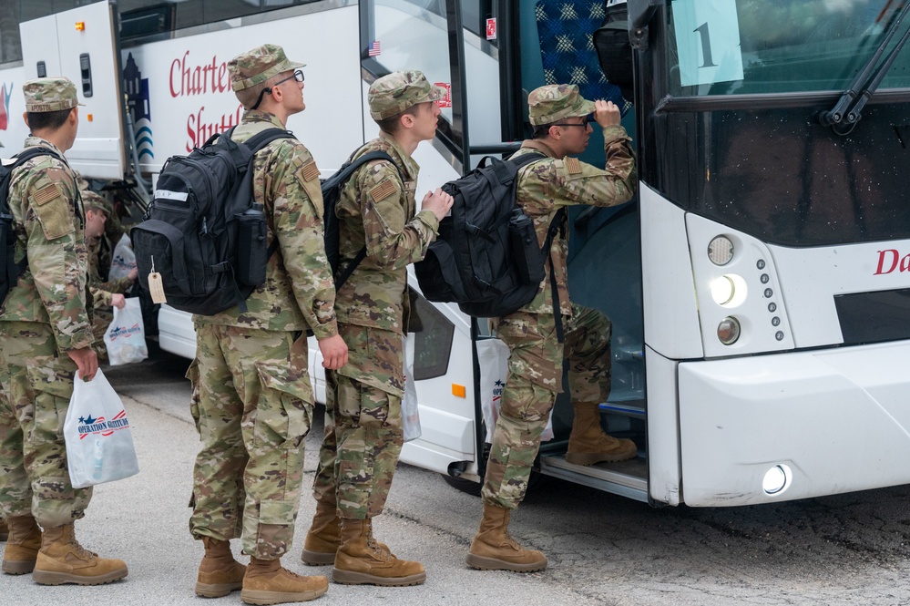
<path id="1" fill-rule="evenodd" d="M 484 518 L 471 549 L 467 565 L 480 570 L 534 572 L 547 568 L 547 557 L 537 550 L 526 550 L 508 535 L 511 509 L 484 503 Z"/>

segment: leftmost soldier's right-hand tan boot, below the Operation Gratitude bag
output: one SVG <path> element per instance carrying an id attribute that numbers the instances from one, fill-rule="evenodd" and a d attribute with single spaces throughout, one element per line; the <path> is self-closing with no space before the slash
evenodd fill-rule
<path id="1" fill-rule="evenodd" d="M 98 558 L 79 545 L 72 524 L 45 529 L 32 580 L 41 585 L 100 585 L 127 576 L 123 560 Z"/>

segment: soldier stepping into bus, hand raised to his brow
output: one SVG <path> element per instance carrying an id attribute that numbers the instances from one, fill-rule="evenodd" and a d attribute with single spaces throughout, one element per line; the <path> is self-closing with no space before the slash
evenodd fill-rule
<path id="1" fill-rule="evenodd" d="M 531 125 L 536 128 L 534 139 L 526 140 L 514 157 L 542 153 L 546 158 L 519 171 L 517 200 L 534 221 L 537 241 L 543 246 L 559 209 L 629 201 L 636 187 L 635 158 L 629 136 L 619 126 L 619 108 L 608 101 L 592 103 L 574 85 L 550 85 L 534 90 L 528 105 Z M 605 169 L 569 156 L 588 147 L 591 114 L 603 129 Z M 525 497 L 540 436 L 557 393 L 562 391 L 565 358 L 575 411 L 566 460 L 592 465 L 636 456 L 631 440 L 610 437 L 601 429 L 598 406 L 607 400 L 610 386 L 610 323 L 603 313 L 569 301 L 567 252 L 567 225 L 563 225 L 549 251 L 558 310 L 554 309 L 547 263 L 537 296 L 494 323 L 499 338 L 509 347 L 509 373 L 486 466 L 484 515 L 467 556 L 468 565 L 474 568 L 524 572 L 547 566 L 544 554 L 518 545 L 508 536 L 507 526 L 511 511 Z"/>

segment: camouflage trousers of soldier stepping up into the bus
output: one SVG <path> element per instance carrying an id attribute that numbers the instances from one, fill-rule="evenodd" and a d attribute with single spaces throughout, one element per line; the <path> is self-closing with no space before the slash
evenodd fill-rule
<path id="1" fill-rule="evenodd" d="M 509 348 L 508 378 L 486 463 L 484 502 L 515 509 L 525 498 L 527 478 L 562 391 L 563 360 L 573 403 L 605 402 L 610 389 L 609 319 L 596 309 L 572 303 L 563 316 L 565 343 L 559 343 L 552 315 L 512 313 L 499 318 L 496 334 Z"/>

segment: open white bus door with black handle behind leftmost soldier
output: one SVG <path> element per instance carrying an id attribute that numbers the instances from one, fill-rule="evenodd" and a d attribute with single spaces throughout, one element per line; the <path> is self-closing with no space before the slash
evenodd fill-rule
<path id="1" fill-rule="evenodd" d="M 85 107 L 66 159 L 92 179 L 121 180 L 126 168 L 116 11 L 105 0 L 19 25 L 26 80 L 64 76 L 76 84 Z"/>

